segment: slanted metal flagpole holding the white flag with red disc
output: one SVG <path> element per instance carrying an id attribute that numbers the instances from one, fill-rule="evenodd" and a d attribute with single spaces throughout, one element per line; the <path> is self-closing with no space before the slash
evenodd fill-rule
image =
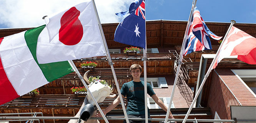
<path id="1" fill-rule="evenodd" d="M 111 70 L 112 70 L 112 73 L 113 73 L 113 76 L 114 76 L 114 80 L 115 80 L 115 84 L 116 84 L 116 89 L 118 91 L 118 95 L 119 95 L 119 98 L 120 98 L 120 101 L 121 101 L 121 105 L 122 105 L 122 108 L 123 108 L 123 113 L 125 115 L 125 120 L 127 123 L 129 123 L 129 120 L 128 120 L 128 116 L 127 116 L 127 113 L 126 113 L 126 110 L 125 110 L 125 104 L 123 103 L 123 97 L 121 95 L 121 91 L 120 91 L 120 88 L 119 88 L 119 84 L 118 84 L 118 81 L 117 81 L 117 78 L 116 78 L 116 73 L 115 73 L 115 70 L 114 70 L 114 66 L 113 66 L 113 62 L 111 60 L 111 57 L 110 57 L 110 53 L 108 51 L 108 45 L 106 43 L 106 38 L 105 38 L 105 35 L 103 33 L 103 29 L 102 29 L 102 26 L 101 26 L 101 23 L 100 23 L 100 18 L 99 18 L 99 15 L 98 15 L 98 11 L 97 11 L 97 8 L 96 8 L 96 5 L 95 5 L 95 2 L 94 0 L 92 0 L 93 2 L 93 7 L 94 7 L 94 10 L 95 10 L 95 13 L 96 13 L 96 17 L 97 17 L 97 20 L 98 20 L 98 25 L 100 27 L 100 32 L 101 32 L 101 37 L 103 39 L 103 43 L 104 43 L 104 46 L 105 46 L 105 50 L 107 52 L 107 58 L 108 58 L 108 64 L 110 65 L 111 67 Z M 98 107 L 97 107 L 98 108 Z M 101 113 L 101 112 L 100 112 Z M 101 116 L 103 116 L 103 112 L 101 113 Z M 105 115 L 104 115 L 105 117 Z"/>

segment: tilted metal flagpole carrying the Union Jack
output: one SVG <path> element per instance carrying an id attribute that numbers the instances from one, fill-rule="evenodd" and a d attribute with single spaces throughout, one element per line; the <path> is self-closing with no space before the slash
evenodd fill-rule
<path id="1" fill-rule="evenodd" d="M 178 80 L 178 77 L 179 77 L 180 68 L 181 68 L 181 65 L 182 65 L 183 51 L 185 49 L 185 45 L 186 45 L 185 42 L 187 40 L 188 32 L 190 30 L 190 25 L 191 25 L 192 18 L 193 18 L 194 7 L 196 6 L 196 1 L 197 0 L 193 0 L 193 2 L 192 2 L 192 7 L 191 7 L 191 11 L 190 11 L 190 17 L 188 18 L 188 24 L 187 24 L 187 27 L 186 27 L 185 35 L 184 35 L 182 46 L 181 46 L 180 57 L 179 57 L 179 60 L 178 60 L 178 64 L 179 64 L 178 65 L 178 70 L 176 72 L 175 80 L 174 80 L 174 83 L 173 83 L 173 90 L 171 91 L 171 99 L 170 99 L 170 103 L 169 103 L 169 106 L 168 106 L 168 110 L 166 112 L 165 123 L 167 123 L 168 117 L 170 115 L 171 102 L 173 101 L 173 96 L 174 96 L 177 80 Z"/>

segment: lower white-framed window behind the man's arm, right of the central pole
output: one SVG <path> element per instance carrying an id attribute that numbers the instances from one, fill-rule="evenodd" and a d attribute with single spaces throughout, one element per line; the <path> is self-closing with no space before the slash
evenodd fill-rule
<path id="1" fill-rule="evenodd" d="M 169 106 L 170 104 L 170 97 L 160 97 L 159 98 L 163 103 L 165 104 L 166 107 Z M 160 106 L 158 106 L 155 101 L 152 98 L 148 98 L 148 108 L 149 109 L 160 109 Z M 173 101 L 171 102 L 171 108 L 175 108 Z"/>

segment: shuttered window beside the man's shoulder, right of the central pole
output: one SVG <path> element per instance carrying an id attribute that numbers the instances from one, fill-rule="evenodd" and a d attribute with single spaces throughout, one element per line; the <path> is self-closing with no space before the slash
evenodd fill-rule
<path id="1" fill-rule="evenodd" d="M 144 81 L 144 78 L 141 77 L 140 80 Z M 150 83 L 152 88 L 168 88 L 165 77 L 147 78 L 147 83 Z"/>

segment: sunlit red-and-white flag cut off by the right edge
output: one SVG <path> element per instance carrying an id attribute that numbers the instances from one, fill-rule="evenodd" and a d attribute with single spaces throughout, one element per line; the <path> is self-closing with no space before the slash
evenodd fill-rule
<path id="1" fill-rule="evenodd" d="M 223 58 L 235 55 L 243 62 L 256 64 L 256 38 L 233 26 L 223 41 L 213 69 Z"/>

